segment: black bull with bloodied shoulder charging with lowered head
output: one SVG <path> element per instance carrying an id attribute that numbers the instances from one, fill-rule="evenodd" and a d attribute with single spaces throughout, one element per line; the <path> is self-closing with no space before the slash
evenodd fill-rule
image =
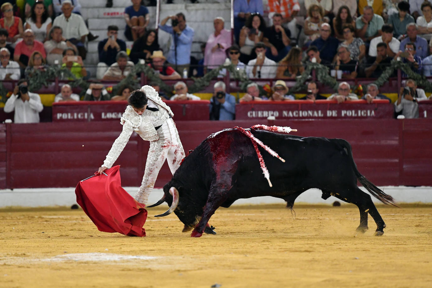
<path id="1" fill-rule="evenodd" d="M 359 173 L 348 142 L 264 130 L 251 132 L 286 160 L 284 163 L 259 148 L 273 187 L 263 177 L 251 139 L 237 129 L 226 129 L 210 135 L 184 158 L 164 186 L 165 195 L 154 206 L 166 201 L 171 209 L 163 216 L 174 210 L 184 223 L 184 231 L 194 228 L 191 236 L 200 237 L 220 206 L 229 207 L 241 198 L 273 196 L 284 199 L 292 208 L 301 193 L 318 188 L 323 199 L 335 196 L 359 207 L 357 231 L 368 229 L 369 213 L 377 225 L 375 235 L 384 233 L 384 221 L 371 196 L 357 187 L 357 179 L 381 202 L 394 205 L 394 200 Z"/>

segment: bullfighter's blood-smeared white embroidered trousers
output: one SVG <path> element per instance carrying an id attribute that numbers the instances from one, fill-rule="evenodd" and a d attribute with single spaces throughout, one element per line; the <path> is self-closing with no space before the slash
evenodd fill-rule
<path id="1" fill-rule="evenodd" d="M 180 137 L 172 118 L 169 118 L 156 132 L 159 139 L 150 142 L 143 182 L 134 196 L 138 202 L 144 205 L 146 205 L 150 192 L 152 192 L 155 186 L 156 178 L 165 159 L 168 159 L 169 169 L 174 175 L 174 172 L 180 167 L 180 163 L 185 157 L 183 145 L 181 145 Z"/>

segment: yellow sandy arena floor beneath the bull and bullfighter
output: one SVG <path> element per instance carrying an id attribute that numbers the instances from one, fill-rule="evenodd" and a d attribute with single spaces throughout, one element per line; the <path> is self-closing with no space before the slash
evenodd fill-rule
<path id="1" fill-rule="evenodd" d="M 432 206 L 378 206 L 384 236 L 356 234 L 356 206 L 220 208 L 217 235 L 172 214 L 147 237 L 99 232 L 84 212 L 0 209 L 0 287 L 432 287 Z M 212 286 L 213 285 L 213 286 Z"/>

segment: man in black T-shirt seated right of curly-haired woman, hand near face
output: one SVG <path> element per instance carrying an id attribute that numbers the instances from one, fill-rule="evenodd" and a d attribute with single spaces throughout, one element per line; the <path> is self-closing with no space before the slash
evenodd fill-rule
<path id="1" fill-rule="evenodd" d="M 263 42 L 267 46 L 266 57 L 279 62 L 291 49 L 289 46 L 291 32 L 282 27 L 282 15 L 280 13 L 275 13 L 272 19 L 273 25 L 266 28 Z"/>

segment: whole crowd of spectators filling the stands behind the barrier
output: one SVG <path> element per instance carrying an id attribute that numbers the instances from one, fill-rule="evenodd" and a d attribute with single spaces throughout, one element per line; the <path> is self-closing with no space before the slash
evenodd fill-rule
<path id="1" fill-rule="evenodd" d="M 407 63 L 416 74 L 432 75 L 432 0 L 268 0 L 265 5 L 262 0 L 235 0 L 234 38 L 225 29 L 226 19 L 213 19 L 214 29 L 202 45 L 203 59 L 199 63 L 203 69 L 191 64 L 195 32 L 184 13 L 166 16 L 158 23 L 159 29 L 150 29 L 149 9 L 142 0 L 131 0 L 131 5 L 124 9 L 124 33 L 128 41 L 133 41 L 132 49 L 128 54 L 125 41 L 118 38 L 119 27 L 109 25 L 106 38 L 98 43 L 95 75 L 87 71 L 84 60 L 87 41 L 98 36 L 92 35 L 80 15 L 79 0 L 26 0 L 21 11 L 23 18 L 16 1 L 1 3 L 0 80 L 24 80 L 18 82 L 15 98 L 10 98 L 4 111 L 13 111 L 12 100 L 16 109 L 39 111 L 40 105 L 35 104 L 37 94 L 20 92 L 19 87 L 26 87 L 35 71 L 44 71 L 52 65 L 70 70 L 78 79 L 119 82 L 133 72 L 137 63 L 151 67 L 161 80 L 200 76 L 223 63 L 232 63 L 256 82 L 275 80 L 267 95 L 262 95 L 257 83 L 249 84 L 240 102 L 294 100 L 285 81 L 301 76 L 309 62 L 327 66 L 330 76 L 340 79 L 337 93 L 327 98 L 338 103 L 358 99 L 345 80 L 378 78 L 392 60 Z M 112 1 L 107 1 L 108 6 L 112 6 Z M 305 15 L 300 15 L 301 11 Z M 170 36 L 165 54 L 159 47 L 158 33 Z M 226 73 L 222 69 L 218 77 Z M 317 83 L 307 85 L 305 99 L 325 98 L 318 93 Z M 418 92 L 412 79 L 407 81 L 407 87 L 407 91 L 400 91 L 395 110 L 407 117 L 418 117 L 414 100 L 426 95 Z M 225 92 L 224 82 L 216 82 L 213 88 L 210 117 L 234 119 L 235 98 Z M 170 100 L 200 99 L 188 93 L 184 82 L 177 82 L 174 90 Z M 121 87 L 112 100 L 125 100 L 130 92 L 130 87 Z M 17 101 L 17 95 L 24 104 L 27 100 L 28 105 Z M 363 98 L 370 102 L 382 96 L 378 87 L 369 85 Z M 93 83 L 84 100 L 110 100 L 110 97 L 104 85 Z M 79 101 L 79 96 L 73 94 L 69 85 L 64 85 L 55 101 Z"/>

